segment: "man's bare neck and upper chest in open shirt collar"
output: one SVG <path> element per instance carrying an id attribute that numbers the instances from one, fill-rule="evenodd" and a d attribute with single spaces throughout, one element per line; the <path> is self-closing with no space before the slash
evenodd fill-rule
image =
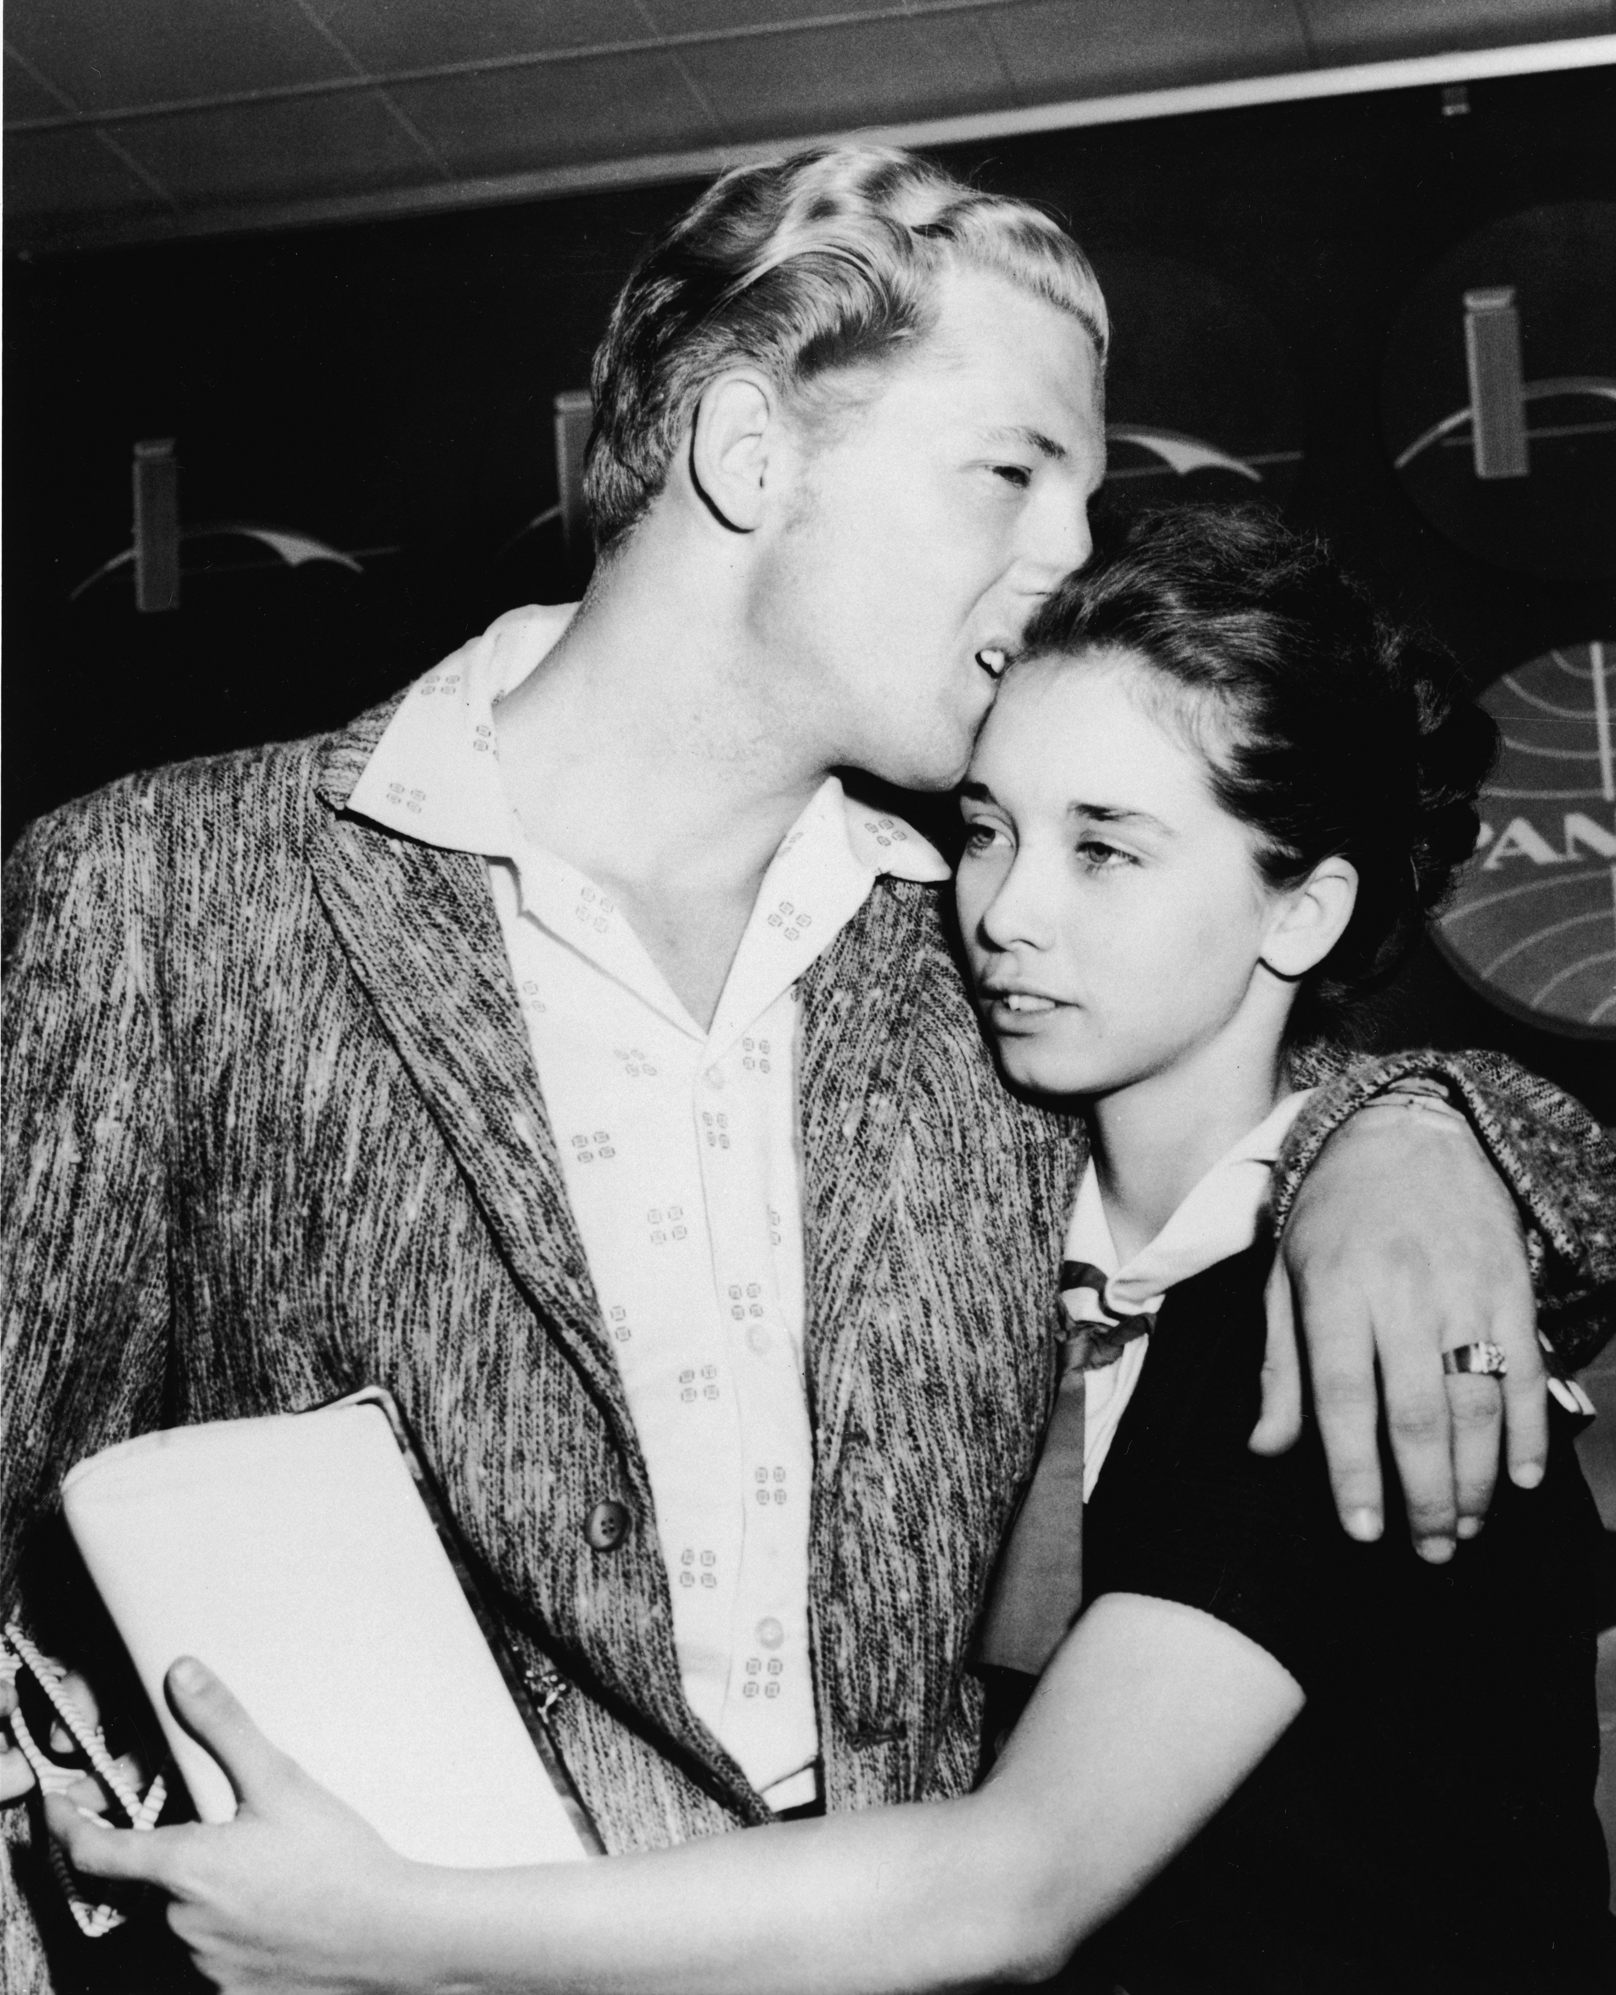
<path id="1" fill-rule="evenodd" d="M 828 774 L 724 591 L 630 549 L 497 706 L 527 836 L 608 892 L 708 1025 L 768 862 Z"/>

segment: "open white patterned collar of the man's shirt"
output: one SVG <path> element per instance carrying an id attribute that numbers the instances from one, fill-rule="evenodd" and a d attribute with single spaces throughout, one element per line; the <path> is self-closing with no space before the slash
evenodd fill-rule
<path id="1" fill-rule="evenodd" d="M 575 602 L 507 610 L 419 678 L 377 742 L 347 808 L 451 852 L 519 860 L 531 850 L 499 780 L 493 706 L 527 678 L 575 612 Z M 942 854 L 914 826 L 846 796 L 834 776 L 782 840 L 776 864 L 808 834 L 828 794 L 842 810 L 852 858 L 872 878 L 948 878 Z"/>

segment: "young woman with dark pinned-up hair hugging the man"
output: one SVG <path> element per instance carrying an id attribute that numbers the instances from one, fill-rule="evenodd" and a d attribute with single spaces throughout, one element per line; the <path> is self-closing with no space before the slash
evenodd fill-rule
<path id="1" fill-rule="evenodd" d="M 1307 1045 L 1351 1031 L 1440 900 L 1492 746 L 1452 664 L 1267 515 L 1149 517 L 1069 581 L 984 728 L 958 874 L 1008 1079 L 1077 1105 L 1091 1139 L 1057 1410 L 990 1660 L 1039 1668 L 1069 1618 L 1047 1626 L 1075 1598 L 1073 1410 L 1085 1608 L 1035 1688 L 998 1674 L 1000 1724 L 1025 1708 L 990 1776 L 958 1801 L 658 1855 L 431 1871 L 182 1670 L 176 1702 L 243 1796 L 229 1827 L 160 1831 L 207 1973 L 692 1995 L 1055 1973 L 1127 1995 L 1616 1985 L 1576 1420 L 1556 1412 L 1542 1484 L 1506 1484 L 1450 1566 L 1401 1528 L 1349 1540 L 1317 1434 L 1247 1448 L 1269 1163 Z M 1494 1347 L 1450 1367 L 1458 1422 L 1490 1410 Z M 56 1819 L 86 1869 L 116 1869 L 108 1831 Z"/>

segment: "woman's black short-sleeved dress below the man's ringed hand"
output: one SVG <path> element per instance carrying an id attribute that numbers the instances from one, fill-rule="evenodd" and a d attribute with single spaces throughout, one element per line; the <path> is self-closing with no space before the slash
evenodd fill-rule
<path id="1" fill-rule="evenodd" d="M 1077 1957 L 1127 1995 L 1616 1995 L 1594 1815 L 1600 1522 L 1552 1408 L 1548 1476 L 1500 1482 L 1448 1566 L 1347 1538 L 1315 1430 L 1247 1448 L 1253 1249 L 1173 1289 L 1083 1522 L 1085 1592 L 1215 1614 L 1307 1708 L 1241 1792 Z"/>

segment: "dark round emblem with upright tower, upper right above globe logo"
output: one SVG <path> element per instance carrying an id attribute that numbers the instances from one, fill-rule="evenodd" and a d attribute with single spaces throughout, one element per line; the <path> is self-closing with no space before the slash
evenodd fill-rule
<path id="1" fill-rule="evenodd" d="M 1616 577 L 1616 203 L 1492 221 L 1387 343 L 1383 433 L 1420 513 L 1482 561 Z"/>

